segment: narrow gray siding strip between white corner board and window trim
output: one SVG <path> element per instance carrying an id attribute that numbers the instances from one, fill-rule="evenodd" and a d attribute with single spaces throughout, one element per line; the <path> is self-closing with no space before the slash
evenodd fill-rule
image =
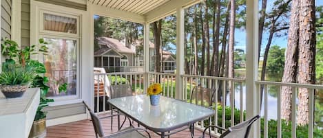
<path id="1" fill-rule="evenodd" d="M 21 0 L 21 45 L 30 45 L 30 0 Z"/>

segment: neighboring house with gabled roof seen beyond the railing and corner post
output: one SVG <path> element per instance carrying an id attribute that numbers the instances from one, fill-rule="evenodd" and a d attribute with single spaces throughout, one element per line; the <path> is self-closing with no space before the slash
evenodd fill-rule
<path id="1" fill-rule="evenodd" d="M 143 71 L 143 45 L 136 41 L 126 45 L 125 41 L 115 38 L 96 38 L 100 49 L 94 51 L 94 67 L 103 67 L 106 72 L 134 72 Z M 149 56 L 154 59 L 154 43 L 149 43 Z M 161 50 L 160 50 L 161 51 Z M 170 51 L 160 52 L 161 72 L 174 73 L 176 59 Z M 154 61 L 154 60 L 153 60 Z M 154 71 L 155 62 L 150 62 L 149 70 Z"/>

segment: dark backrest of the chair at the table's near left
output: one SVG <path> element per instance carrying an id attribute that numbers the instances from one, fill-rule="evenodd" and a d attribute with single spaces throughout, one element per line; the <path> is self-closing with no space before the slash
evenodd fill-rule
<path id="1" fill-rule="evenodd" d="M 90 112 L 90 116 L 91 116 L 91 120 L 92 120 L 92 124 L 94 127 L 96 137 L 104 137 L 103 128 L 101 126 L 100 119 L 98 118 L 98 116 L 96 116 L 92 112 L 91 108 L 89 106 L 87 106 L 87 104 L 84 101 L 83 101 L 83 104 L 85 105 L 87 110 Z"/>

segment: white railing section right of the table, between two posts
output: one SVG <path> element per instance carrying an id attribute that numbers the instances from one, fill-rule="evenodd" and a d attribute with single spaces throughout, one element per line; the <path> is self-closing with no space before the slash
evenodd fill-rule
<path id="1" fill-rule="evenodd" d="M 194 87 L 211 88 L 215 89 L 217 92 L 215 95 L 213 95 L 215 101 L 212 105 L 212 108 L 215 110 L 215 114 L 210 117 L 210 119 L 198 122 L 196 124 L 198 128 L 202 130 L 206 126 L 210 125 L 209 122 L 211 122 L 211 124 L 213 125 L 216 124 L 217 126 L 221 126 L 222 128 L 228 128 L 229 126 L 228 124 L 226 124 L 226 116 L 230 116 L 230 126 L 234 126 L 235 124 L 244 121 L 245 89 L 243 85 L 245 84 L 245 80 L 236 78 L 191 75 L 183 75 L 182 79 L 183 98 L 186 101 L 190 99 L 190 95 L 193 92 Z M 227 96 L 229 96 L 229 99 L 227 99 Z M 227 100 L 229 101 L 227 102 Z M 239 102 L 238 105 L 236 105 L 236 101 Z M 236 110 L 237 108 L 240 110 Z M 229 113 L 226 113 L 228 110 Z M 221 113 L 219 113 L 219 111 L 221 111 Z M 237 111 L 239 112 L 240 116 L 239 121 L 235 120 L 235 113 Z M 211 133 L 213 133 L 213 135 L 219 136 L 217 129 L 211 130 Z"/>

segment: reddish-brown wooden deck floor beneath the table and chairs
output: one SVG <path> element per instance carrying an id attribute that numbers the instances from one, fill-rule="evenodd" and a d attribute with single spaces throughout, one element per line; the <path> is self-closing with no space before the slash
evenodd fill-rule
<path id="1" fill-rule="evenodd" d="M 117 124 L 117 118 L 114 117 L 113 119 L 114 124 L 112 125 L 111 130 L 111 119 L 103 119 L 103 131 L 105 132 L 105 135 L 110 135 L 111 133 L 114 133 L 118 130 L 118 124 Z M 136 123 L 135 123 L 136 124 Z M 125 126 L 129 126 L 129 123 L 127 122 Z M 150 132 L 150 135 L 152 135 L 152 138 L 159 138 L 160 136 L 156 135 L 155 133 Z M 202 133 L 200 130 L 195 130 L 195 137 L 200 137 Z M 93 138 L 94 135 L 94 128 L 92 126 L 92 122 L 89 119 L 81 120 L 78 122 L 71 122 L 67 124 L 61 124 L 57 126 L 50 126 L 47 128 L 47 138 Z M 189 130 L 183 130 L 179 133 L 176 133 L 174 135 L 170 136 L 171 138 L 189 138 Z"/>

